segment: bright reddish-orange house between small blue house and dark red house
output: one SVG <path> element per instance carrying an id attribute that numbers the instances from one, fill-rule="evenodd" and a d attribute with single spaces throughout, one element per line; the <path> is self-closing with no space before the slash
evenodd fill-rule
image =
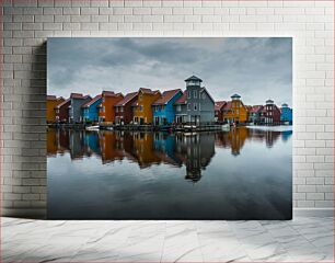
<path id="1" fill-rule="evenodd" d="M 113 91 L 103 91 L 102 103 L 99 111 L 100 122 L 113 124 L 115 122 L 114 106 L 123 99 L 124 95 L 122 93 L 114 93 Z"/>

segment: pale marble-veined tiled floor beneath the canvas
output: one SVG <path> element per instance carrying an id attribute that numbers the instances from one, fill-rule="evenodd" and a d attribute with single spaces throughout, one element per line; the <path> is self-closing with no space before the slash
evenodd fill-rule
<path id="1" fill-rule="evenodd" d="M 333 217 L 1 225 L 3 262 L 334 262 Z"/>

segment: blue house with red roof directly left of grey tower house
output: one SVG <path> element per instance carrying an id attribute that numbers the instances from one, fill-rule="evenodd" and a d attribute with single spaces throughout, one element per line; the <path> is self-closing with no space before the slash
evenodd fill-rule
<path id="1" fill-rule="evenodd" d="M 174 103 L 183 95 L 181 89 L 164 91 L 162 96 L 152 103 L 154 125 L 168 125 L 174 122 Z"/>

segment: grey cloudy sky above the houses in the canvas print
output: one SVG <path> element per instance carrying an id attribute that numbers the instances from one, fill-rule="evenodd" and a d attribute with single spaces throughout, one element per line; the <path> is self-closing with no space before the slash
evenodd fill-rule
<path id="1" fill-rule="evenodd" d="M 185 89 L 195 75 L 215 100 L 292 103 L 292 41 L 229 38 L 48 38 L 48 94 L 92 96 L 140 87 Z"/>

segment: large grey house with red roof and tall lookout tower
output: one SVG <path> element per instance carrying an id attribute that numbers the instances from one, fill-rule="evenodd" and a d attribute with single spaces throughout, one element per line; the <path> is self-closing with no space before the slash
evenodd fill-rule
<path id="1" fill-rule="evenodd" d="M 215 100 L 196 76 L 185 80 L 186 91 L 176 100 L 175 122 L 195 125 L 215 122 Z"/>

